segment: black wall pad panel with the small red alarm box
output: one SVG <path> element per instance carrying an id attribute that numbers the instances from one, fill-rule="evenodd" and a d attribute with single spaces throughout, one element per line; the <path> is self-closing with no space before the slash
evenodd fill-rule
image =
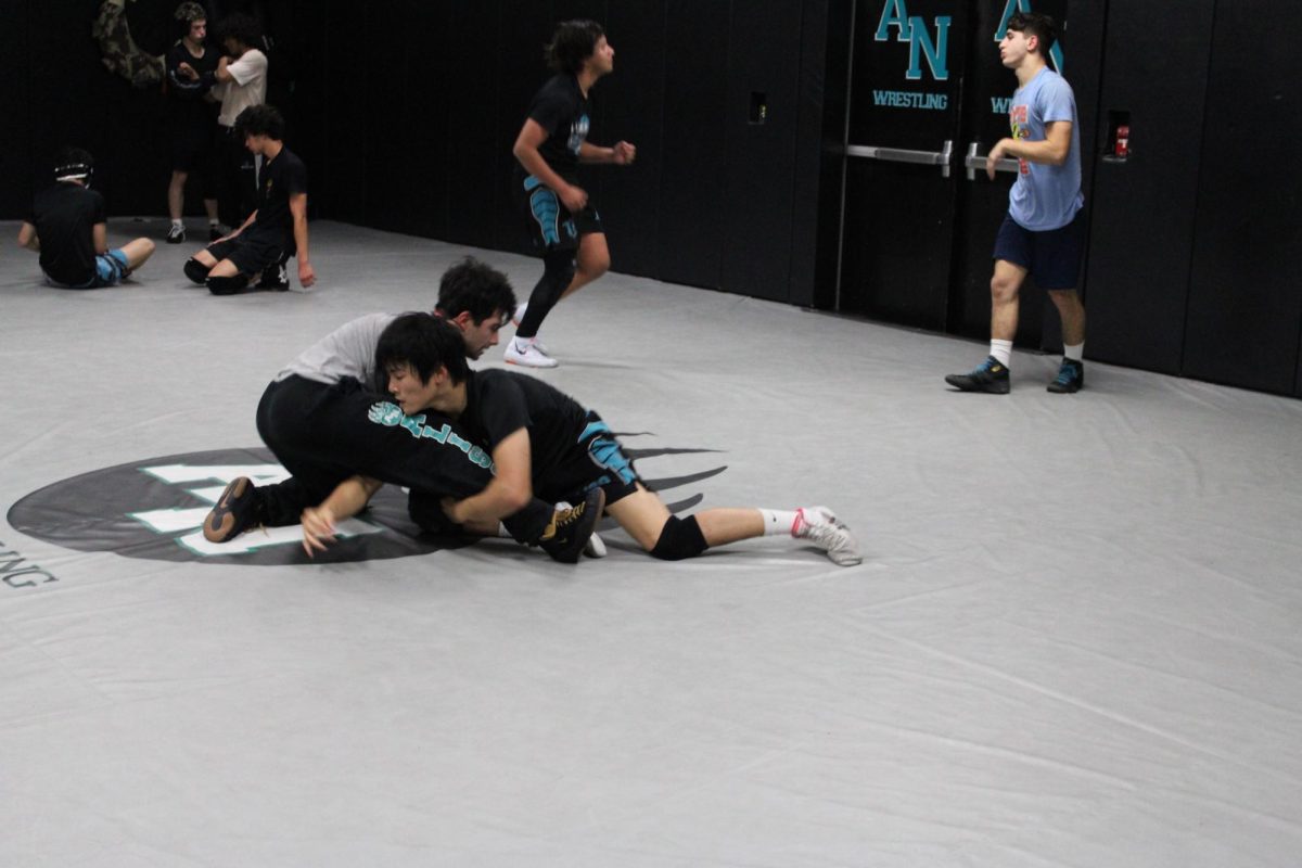
<path id="1" fill-rule="evenodd" d="M 1159 4 L 1112 4 L 1099 95 L 1086 305 L 1090 358 L 1177 373 L 1194 243 L 1215 0 L 1170 16 L 1161 51 L 1134 51 Z M 1160 83 L 1160 85 L 1159 85 Z M 1105 154 L 1108 117 L 1130 121 L 1130 156 Z"/>

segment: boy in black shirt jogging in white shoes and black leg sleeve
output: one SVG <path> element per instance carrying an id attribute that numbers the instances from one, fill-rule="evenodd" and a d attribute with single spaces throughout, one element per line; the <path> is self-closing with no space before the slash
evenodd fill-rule
<path id="1" fill-rule="evenodd" d="M 534 96 L 529 117 L 512 152 L 516 195 L 523 207 L 534 243 L 543 251 L 543 276 L 527 305 L 517 311 L 516 338 L 506 345 L 506 360 L 529 367 L 556 367 L 556 359 L 538 342 L 543 318 L 565 295 L 592 282 L 611 267 L 602 219 L 578 186 L 579 163 L 629 165 L 637 148 L 589 143 L 591 125 L 589 91 L 615 69 L 615 48 L 595 21 L 565 21 L 547 47 L 556 75 Z"/>

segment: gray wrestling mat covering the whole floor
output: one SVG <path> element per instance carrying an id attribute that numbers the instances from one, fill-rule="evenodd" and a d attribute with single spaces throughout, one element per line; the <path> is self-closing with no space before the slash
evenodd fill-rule
<path id="1" fill-rule="evenodd" d="M 331 562 L 216 553 L 272 373 L 475 251 L 318 223 L 309 293 L 210 297 L 197 245 L 77 293 L 0 232 L 0 864 L 1298 864 L 1298 401 L 1025 353 L 956 394 L 976 344 L 609 275 L 540 376 L 862 566 L 444 549 L 397 493 Z"/>

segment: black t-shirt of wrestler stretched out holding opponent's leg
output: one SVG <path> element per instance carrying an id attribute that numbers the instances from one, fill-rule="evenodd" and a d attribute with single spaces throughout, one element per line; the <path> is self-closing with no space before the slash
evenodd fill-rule
<path id="1" fill-rule="evenodd" d="M 579 446 L 587 410 L 556 387 L 514 371 L 471 371 L 466 380 L 466 409 L 461 423 L 471 442 L 492 454 L 503 440 L 529 429 L 534 489 L 547 493 L 557 480 L 573 479 L 575 468 L 599 468 Z"/>

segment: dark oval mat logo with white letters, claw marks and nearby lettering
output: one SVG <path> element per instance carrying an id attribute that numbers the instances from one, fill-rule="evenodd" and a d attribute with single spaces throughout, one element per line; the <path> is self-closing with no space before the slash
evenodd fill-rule
<path id="1" fill-rule="evenodd" d="M 712 450 L 625 448 L 634 461 L 708 452 Z M 646 478 L 646 481 L 660 492 L 668 492 L 724 470 L 725 466 L 715 466 L 684 476 Z M 255 485 L 273 485 L 288 479 L 289 474 L 266 449 L 165 455 L 47 485 L 16 502 L 9 509 L 8 522 L 30 537 L 78 552 L 113 552 L 130 558 L 199 563 L 281 566 L 378 561 L 467 544 L 460 537 L 422 532 L 408 515 L 406 495 L 393 485 L 384 485 L 361 517 L 341 522 L 339 541 L 315 560 L 309 560 L 303 552 L 302 530 L 297 524 L 250 530 L 228 543 L 210 543 L 203 537 L 203 519 L 227 483 L 238 476 L 249 476 Z M 702 498 L 702 495 L 690 495 L 668 506 L 677 513 L 695 506 Z M 7 560 L 8 556 L 12 557 Z M 66 575 L 62 578 L 66 579 Z M 0 580 L 10 587 L 31 587 L 26 583 L 57 579 L 26 563 L 17 552 L 0 552 Z"/>

